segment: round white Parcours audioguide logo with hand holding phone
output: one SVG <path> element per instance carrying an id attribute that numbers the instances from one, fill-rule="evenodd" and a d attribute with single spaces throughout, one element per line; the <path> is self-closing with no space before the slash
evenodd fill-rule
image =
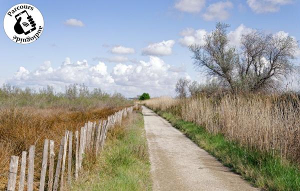
<path id="1" fill-rule="evenodd" d="M 31 43 L 39 38 L 43 25 L 40 11 L 27 3 L 16 4 L 9 8 L 3 21 L 7 36 L 20 44 Z"/>

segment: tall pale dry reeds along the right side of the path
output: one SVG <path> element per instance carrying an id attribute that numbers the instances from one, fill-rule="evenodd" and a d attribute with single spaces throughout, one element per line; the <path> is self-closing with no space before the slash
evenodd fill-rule
<path id="1" fill-rule="evenodd" d="M 169 111 L 185 121 L 222 133 L 248 148 L 279 153 L 300 162 L 300 100 L 297 96 L 227 95 L 220 99 L 199 96 L 162 97 L 143 103 Z"/>

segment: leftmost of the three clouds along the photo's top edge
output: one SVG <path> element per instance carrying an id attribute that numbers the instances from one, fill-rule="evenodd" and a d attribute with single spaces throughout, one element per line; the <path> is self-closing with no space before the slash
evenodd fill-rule
<path id="1" fill-rule="evenodd" d="M 200 12 L 205 6 L 205 0 L 178 0 L 175 8 L 183 12 Z"/>

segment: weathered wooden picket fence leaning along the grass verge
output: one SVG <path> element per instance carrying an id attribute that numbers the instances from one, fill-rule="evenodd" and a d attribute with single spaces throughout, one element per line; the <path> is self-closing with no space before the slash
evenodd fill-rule
<path id="1" fill-rule="evenodd" d="M 44 140 L 41 172 L 39 180 L 39 191 L 48 190 L 56 191 L 62 190 L 64 185 L 65 175 L 65 163 L 67 162 L 66 170 L 66 183 L 71 184 L 71 180 L 78 178 L 80 169 L 82 168 L 82 160 L 84 159 L 85 151 L 92 151 L 97 155 L 102 149 L 106 139 L 108 129 L 113 128 L 115 125 L 120 125 L 122 118 L 130 114 L 133 110 L 133 106 L 124 108 L 108 116 L 107 120 L 99 120 L 96 122 L 88 121 L 84 126 L 75 131 L 75 166 L 72 166 L 72 131 L 65 131 L 65 135 L 61 137 L 59 143 L 59 152 L 56 162 L 56 168 L 54 171 L 54 141 Z M 67 152 L 68 148 L 68 152 Z M 25 182 L 25 169 L 26 169 L 26 156 L 27 152 L 23 151 L 20 161 L 20 170 L 18 172 L 18 156 L 11 156 L 8 171 L 8 183 L 7 190 L 14 191 L 16 185 L 16 177 L 19 173 L 19 186 L 18 190 L 24 189 L 25 183 L 27 184 L 27 190 L 33 190 L 33 174 L 34 174 L 34 145 L 29 147 L 28 153 L 28 165 L 27 165 L 27 181 Z M 47 179 L 45 183 L 46 172 L 48 165 Z M 72 177 L 71 168 L 75 168 L 74 177 Z M 55 174 L 54 174 L 55 172 Z M 60 181 L 59 181 L 60 180 Z M 46 186 L 45 186 L 46 185 Z"/>

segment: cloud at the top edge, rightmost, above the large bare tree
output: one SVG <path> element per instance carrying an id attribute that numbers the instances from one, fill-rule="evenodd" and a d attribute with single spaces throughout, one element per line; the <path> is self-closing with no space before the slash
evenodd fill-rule
<path id="1" fill-rule="evenodd" d="M 292 2 L 293 0 L 247 0 L 249 7 L 256 13 L 277 12 L 281 5 Z"/>

